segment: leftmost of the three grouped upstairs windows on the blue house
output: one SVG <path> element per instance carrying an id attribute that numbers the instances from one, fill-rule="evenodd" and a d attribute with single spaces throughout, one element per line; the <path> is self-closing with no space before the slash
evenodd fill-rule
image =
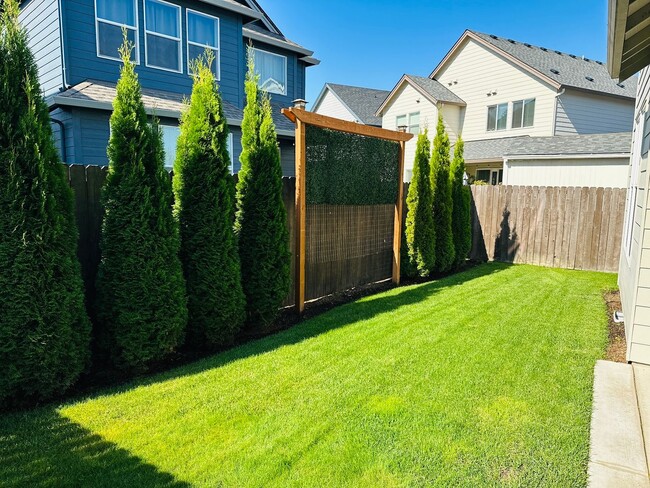
<path id="1" fill-rule="evenodd" d="M 122 27 L 135 48 L 131 59 L 140 61 L 138 48 L 138 10 L 135 0 L 95 0 L 95 34 L 97 56 L 120 61 Z"/>

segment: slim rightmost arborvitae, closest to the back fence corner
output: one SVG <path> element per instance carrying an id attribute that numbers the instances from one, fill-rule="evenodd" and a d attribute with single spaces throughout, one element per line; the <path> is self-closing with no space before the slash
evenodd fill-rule
<path id="1" fill-rule="evenodd" d="M 465 143 L 459 136 L 454 147 L 454 160 L 451 163 L 451 199 L 452 217 L 451 229 L 454 239 L 454 266 L 465 262 L 472 248 L 471 195 L 469 186 L 464 185 L 465 158 L 463 157 Z"/>

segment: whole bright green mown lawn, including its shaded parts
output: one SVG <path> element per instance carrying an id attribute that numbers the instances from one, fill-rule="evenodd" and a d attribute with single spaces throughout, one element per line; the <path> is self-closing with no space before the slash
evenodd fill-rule
<path id="1" fill-rule="evenodd" d="M 0 486 L 583 486 L 613 287 L 483 265 L 0 416 Z"/>

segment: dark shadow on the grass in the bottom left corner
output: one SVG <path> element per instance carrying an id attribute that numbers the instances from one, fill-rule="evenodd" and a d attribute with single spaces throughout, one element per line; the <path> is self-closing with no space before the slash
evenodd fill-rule
<path id="1" fill-rule="evenodd" d="M 47 408 L 0 417 L 0 486 L 190 485 Z"/>

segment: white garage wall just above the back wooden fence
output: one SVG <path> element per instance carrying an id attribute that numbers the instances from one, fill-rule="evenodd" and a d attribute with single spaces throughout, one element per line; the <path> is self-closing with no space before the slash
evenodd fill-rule
<path id="1" fill-rule="evenodd" d="M 627 188 L 629 158 L 508 160 L 504 185 Z"/>

